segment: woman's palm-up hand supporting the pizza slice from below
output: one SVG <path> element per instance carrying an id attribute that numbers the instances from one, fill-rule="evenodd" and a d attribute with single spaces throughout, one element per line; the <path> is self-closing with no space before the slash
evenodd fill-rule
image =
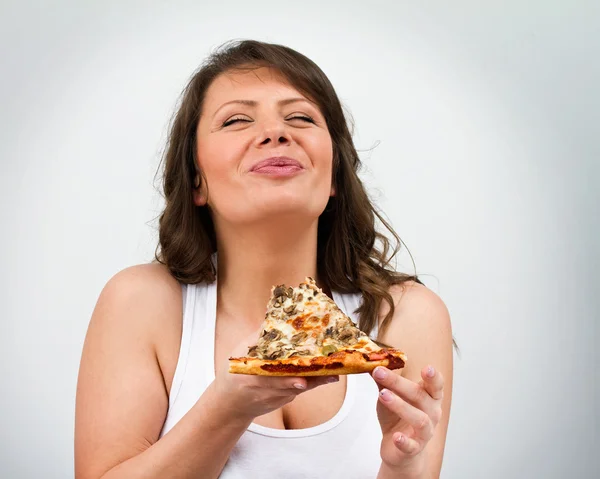
<path id="1" fill-rule="evenodd" d="M 248 345 L 256 343 L 260 330 L 239 343 L 232 357 L 247 355 Z M 233 417 L 252 421 L 292 402 L 296 396 L 324 384 L 339 381 L 339 376 L 278 377 L 231 374 L 224 367 L 213 387 L 218 392 L 222 407 Z"/>

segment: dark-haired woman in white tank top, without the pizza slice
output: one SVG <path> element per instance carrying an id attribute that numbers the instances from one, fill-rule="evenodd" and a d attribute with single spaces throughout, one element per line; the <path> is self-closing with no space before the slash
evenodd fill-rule
<path id="1" fill-rule="evenodd" d="M 312 61 L 255 41 L 209 58 L 172 125 L 158 262 L 112 278 L 90 322 L 78 479 L 439 475 L 450 320 L 416 278 L 389 269 L 359 163 Z M 258 337 L 271 286 L 306 276 L 405 351 L 406 367 L 229 374 L 230 355 Z"/>

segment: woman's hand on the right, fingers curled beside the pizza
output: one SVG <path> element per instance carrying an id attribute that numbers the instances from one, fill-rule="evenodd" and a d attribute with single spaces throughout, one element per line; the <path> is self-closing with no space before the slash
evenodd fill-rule
<path id="1" fill-rule="evenodd" d="M 424 449 L 442 417 L 444 379 L 432 366 L 419 383 L 384 367 L 373 371 L 379 386 L 377 416 L 383 432 L 381 460 L 407 477 L 424 473 Z"/>

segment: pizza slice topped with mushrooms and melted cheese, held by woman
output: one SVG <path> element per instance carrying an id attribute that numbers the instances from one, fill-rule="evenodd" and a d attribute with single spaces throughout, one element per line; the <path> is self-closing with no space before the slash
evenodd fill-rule
<path id="1" fill-rule="evenodd" d="M 229 372 L 261 376 L 328 376 L 404 367 L 403 352 L 360 331 L 335 302 L 306 278 L 275 286 L 262 333 L 247 357 L 229 358 Z"/>

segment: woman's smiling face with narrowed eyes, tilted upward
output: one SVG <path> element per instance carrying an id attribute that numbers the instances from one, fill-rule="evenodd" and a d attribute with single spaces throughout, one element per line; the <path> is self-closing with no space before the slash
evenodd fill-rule
<path id="1" fill-rule="evenodd" d="M 194 201 L 208 203 L 217 223 L 287 215 L 316 219 L 333 194 L 325 118 L 270 68 L 225 73 L 213 81 L 198 124 L 197 151 L 206 181 Z"/>

